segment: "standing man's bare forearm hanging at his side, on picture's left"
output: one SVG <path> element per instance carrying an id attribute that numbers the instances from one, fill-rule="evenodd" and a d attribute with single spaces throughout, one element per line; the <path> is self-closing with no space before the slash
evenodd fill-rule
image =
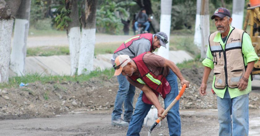
<path id="1" fill-rule="evenodd" d="M 201 94 L 201 96 L 205 96 L 207 94 L 206 88 L 207 88 L 207 81 L 208 81 L 210 72 L 211 72 L 211 68 L 205 66 L 204 67 L 204 74 L 203 74 L 203 77 L 202 77 L 201 86 L 199 88 L 199 93 Z"/>

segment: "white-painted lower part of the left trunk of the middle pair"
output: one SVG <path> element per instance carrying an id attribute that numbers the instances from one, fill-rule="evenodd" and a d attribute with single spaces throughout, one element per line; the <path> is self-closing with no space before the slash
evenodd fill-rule
<path id="1" fill-rule="evenodd" d="M 71 75 L 76 74 L 79 66 L 80 37 L 80 27 L 70 28 L 68 32 L 68 40 L 71 60 Z"/>

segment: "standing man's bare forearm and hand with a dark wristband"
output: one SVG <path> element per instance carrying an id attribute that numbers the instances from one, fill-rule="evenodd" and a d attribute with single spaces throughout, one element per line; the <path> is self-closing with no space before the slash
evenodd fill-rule
<path id="1" fill-rule="evenodd" d="M 247 68 L 246 68 L 245 74 L 244 74 L 243 76 L 244 76 L 246 79 L 248 79 L 248 80 L 251 80 L 251 79 L 249 79 L 249 75 L 250 75 L 250 73 L 251 73 L 252 70 L 253 70 L 253 66 L 254 66 L 254 61 L 247 63 Z M 239 89 L 240 91 L 243 91 L 243 90 L 245 90 L 245 88 L 247 87 L 248 82 L 244 81 L 244 80 L 241 78 L 237 85 L 238 85 L 238 89 Z"/>

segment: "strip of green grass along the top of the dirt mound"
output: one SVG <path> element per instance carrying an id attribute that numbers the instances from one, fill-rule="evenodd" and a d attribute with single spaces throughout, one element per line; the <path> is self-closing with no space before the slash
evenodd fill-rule
<path id="1" fill-rule="evenodd" d="M 11 88 L 11 87 L 19 87 L 19 84 L 21 82 L 23 83 L 34 83 L 36 81 L 40 81 L 41 83 L 52 83 L 52 82 L 62 82 L 62 81 L 68 81 L 68 82 L 85 82 L 93 77 L 102 77 L 106 76 L 107 79 L 111 79 L 114 75 L 115 70 L 113 68 L 111 69 L 105 69 L 101 71 L 100 69 L 92 71 L 90 74 L 82 74 L 82 75 L 75 75 L 75 76 L 69 76 L 69 75 L 42 75 L 39 73 L 31 73 L 26 74 L 23 76 L 14 76 L 9 78 L 9 83 L 0 83 L 0 88 Z M 59 86 L 57 86 L 59 87 Z M 61 88 L 65 89 L 66 88 Z"/>

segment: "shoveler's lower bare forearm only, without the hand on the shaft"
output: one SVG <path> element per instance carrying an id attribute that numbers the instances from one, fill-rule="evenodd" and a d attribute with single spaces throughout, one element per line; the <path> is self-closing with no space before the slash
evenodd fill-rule
<path id="1" fill-rule="evenodd" d="M 152 89 L 150 87 L 148 87 L 147 85 L 144 85 L 144 87 L 141 90 L 145 93 L 145 96 L 150 100 L 150 102 L 152 102 L 154 104 L 154 106 L 157 109 L 162 108 L 157 96 L 154 94 L 154 92 L 152 91 Z"/>

